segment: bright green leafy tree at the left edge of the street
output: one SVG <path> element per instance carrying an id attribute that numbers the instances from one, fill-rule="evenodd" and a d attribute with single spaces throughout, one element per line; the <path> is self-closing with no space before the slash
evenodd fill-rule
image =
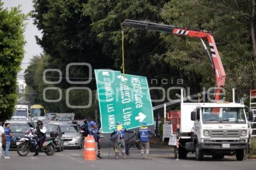
<path id="1" fill-rule="evenodd" d="M 0 121 L 8 120 L 17 101 L 16 80 L 24 56 L 26 16 L 19 7 L 10 11 L 0 0 Z"/>

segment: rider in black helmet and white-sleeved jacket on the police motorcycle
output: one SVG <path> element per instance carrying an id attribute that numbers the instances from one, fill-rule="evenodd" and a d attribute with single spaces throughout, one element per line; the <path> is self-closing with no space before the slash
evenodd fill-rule
<path id="1" fill-rule="evenodd" d="M 33 131 L 37 135 L 37 141 L 39 144 L 39 150 L 42 151 L 43 149 L 43 141 L 46 138 L 46 128 L 43 126 L 43 122 L 41 120 L 37 120 L 37 126 L 36 129 Z M 36 153 L 33 156 L 38 155 L 38 150 L 36 149 Z"/>

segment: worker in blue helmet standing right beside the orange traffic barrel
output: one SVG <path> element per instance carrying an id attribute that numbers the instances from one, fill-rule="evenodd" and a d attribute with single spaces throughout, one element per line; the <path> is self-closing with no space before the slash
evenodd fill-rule
<path id="1" fill-rule="evenodd" d="M 96 123 L 94 121 L 90 121 L 90 135 L 94 137 L 95 139 L 95 154 L 99 159 L 102 159 L 101 155 L 101 145 L 100 145 L 100 131 L 96 126 Z"/>

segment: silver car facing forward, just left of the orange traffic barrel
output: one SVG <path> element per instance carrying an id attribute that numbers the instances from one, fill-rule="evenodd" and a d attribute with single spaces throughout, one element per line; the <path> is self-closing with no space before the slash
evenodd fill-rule
<path id="1" fill-rule="evenodd" d="M 75 147 L 77 149 L 83 148 L 83 135 L 77 125 L 74 124 L 59 124 L 61 132 L 65 132 L 64 147 Z"/>

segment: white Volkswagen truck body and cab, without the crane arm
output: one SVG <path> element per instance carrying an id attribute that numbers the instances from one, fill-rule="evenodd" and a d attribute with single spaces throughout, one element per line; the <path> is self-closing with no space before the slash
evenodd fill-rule
<path id="1" fill-rule="evenodd" d="M 242 104 L 227 102 L 181 103 L 179 158 L 186 158 L 192 151 L 197 160 L 204 155 L 222 159 L 233 154 L 237 160 L 243 160 L 249 138 L 244 108 Z"/>

